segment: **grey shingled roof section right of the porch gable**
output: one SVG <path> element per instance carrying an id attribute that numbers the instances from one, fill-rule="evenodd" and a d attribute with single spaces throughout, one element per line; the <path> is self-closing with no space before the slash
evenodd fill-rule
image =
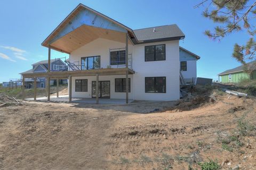
<path id="1" fill-rule="evenodd" d="M 175 24 L 135 29 L 133 30 L 133 33 L 138 39 L 138 42 L 136 42 L 135 39 L 132 38 L 134 44 L 171 41 L 183 39 L 185 37 L 180 28 Z"/>

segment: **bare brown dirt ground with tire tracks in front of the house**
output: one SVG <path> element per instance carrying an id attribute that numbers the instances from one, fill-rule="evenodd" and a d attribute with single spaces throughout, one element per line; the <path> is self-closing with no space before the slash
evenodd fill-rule
<path id="1" fill-rule="evenodd" d="M 215 97 L 1 107 L 0 169 L 256 169 L 256 100 Z"/>

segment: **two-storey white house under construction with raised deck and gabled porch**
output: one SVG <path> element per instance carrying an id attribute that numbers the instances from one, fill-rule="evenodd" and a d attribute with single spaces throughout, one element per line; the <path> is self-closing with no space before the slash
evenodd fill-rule
<path id="1" fill-rule="evenodd" d="M 187 61 L 188 71 L 194 60 L 194 73 L 182 72 L 187 79 L 196 77 L 197 57 L 183 48 L 180 51 L 179 40 L 183 38 L 185 35 L 175 24 L 132 30 L 79 4 L 42 43 L 49 48 L 49 57 L 51 49 L 69 54 L 69 71 L 22 75 L 68 77 L 69 101 L 179 100 L 180 61 Z"/>

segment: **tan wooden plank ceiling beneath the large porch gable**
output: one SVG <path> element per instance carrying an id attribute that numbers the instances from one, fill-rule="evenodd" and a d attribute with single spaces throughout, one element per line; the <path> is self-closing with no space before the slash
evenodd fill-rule
<path id="1" fill-rule="evenodd" d="M 59 51 L 71 53 L 77 48 L 82 47 L 97 38 L 105 38 L 112 41 L 125 43 L 125 34 L 126 33 L 119 31 L 83 25 L 53 42 L 51 47 Z M 129 44 L 132 43 L 129 41 Z"/>

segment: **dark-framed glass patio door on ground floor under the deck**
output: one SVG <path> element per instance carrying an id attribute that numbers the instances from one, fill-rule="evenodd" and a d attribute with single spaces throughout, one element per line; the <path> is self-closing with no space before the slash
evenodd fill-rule
<path id="1" fill-rule="evenodd" d="M 96 81 L 92 81 L 92 98 L 96 98 Z M 110 81 L 99 81 L 99 98 L 110 99 Z"/>

